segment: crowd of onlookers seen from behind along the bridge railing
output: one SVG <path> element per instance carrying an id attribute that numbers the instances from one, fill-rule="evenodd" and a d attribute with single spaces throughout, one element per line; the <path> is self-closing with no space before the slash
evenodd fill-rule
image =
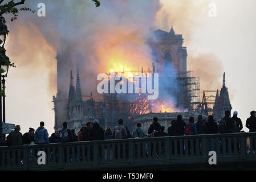
<path id="1" fill-rule="evenodd" d="M 246 121 L 246 127 L 250 132 L 256 132 L 256 111 L 251 111 L 250 118 Z M 127 126 L 123 125 L 123 119 L 118 120 L 118 125 L 113 129 L 107 127 L 103 130 L 99 125 L 99 120 L 88 122 L 83 126 L 78 135 L 74 129 L 68 129 L 67 122 L 63 122 L 63 129 L 55 131 L 48 137 L 48 131 L 44 128 L 44 122 L 40 122 L 38 129 L 29 129 L 28 133 L 21 134 L 21 127 L 15 126 L 7 136 L 7 144 L 9 146 L 20 146 L 22 144 L 46 144 L 59 142 L 80 142 L 90 140 L 108 140 L 108 139 L 126 139 L 126 138 L 142 138 L 142 137 L 164 137 L 164 136 L 181 136 L 181 135 L 197 135 L 197 134 L 217 134 L 217 133 L 239 133 L 243 129 L 240 118 L 237 117 L 237 111 L 234 111 L 233 117 L 230 117 L 230 111 L 225 111 L 225 117 L 217 123 L 212 115 L 209 115 L 208 121 L 202 119 L 202 115 L 198 115 L 195 123 L 194 117 L 189 117 L 189 123 L 182 120 L 182 116 L 178 115 L 177 120 L 170 123 L 168 133 L 165 133 L 165 127 L 161 126 L 158 118 L 152 119 L 152 124 L 148 129 L 148 133 L 141 128 L 141 123 L 137 123 L 137 128 L 130 133 Z"/>

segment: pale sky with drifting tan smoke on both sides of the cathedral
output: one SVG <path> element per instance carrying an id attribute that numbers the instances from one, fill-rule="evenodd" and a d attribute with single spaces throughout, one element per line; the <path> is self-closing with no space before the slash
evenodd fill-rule
<path id="1" fill-rule="evenodd" d="M 36 5 L 39 2 L 41 1 L 30 0 L 27 5 L 38 10 Z M 59 35 L 67 36 L 63 34 L 62 30 L 63 27 L 68 29 L 68 24 L 64 24 L 62 18 L 66 13 L 74 16 L 72 10 L 77 8 L 66 6 L 65 8 L 70 11 L 64 14 L 56 11 L 58 10 L 56 2 L 45 2 L 46 17 L 44 19 L 38 18 L 36 13 L 21 13 L 15 22 L 7 20 L 10 33 L 5 46 L 6 55 L 14 61 L 17 68 L 11 68 L 6 78 L 6 122 L 21 125 L 22 133 L 27 132 L 29 127 L 36 129 L 40 121 L 46 123 L 45 127 L 49 134 L 54 133 L 52 96 L 56 94 L 55 57 L 62 38 Z M 107 11 L 115 9 L 115 7 L 108 7 L 108 3 L 101 3 L 102 6 L 96 9 L 93 3 L 89 5 L 90 1 L 82 2 L 87 3 L 87 10 L 92 13 L 92 17 L 79 19 L 87 23 L 88 20 L 91 22 L 88 25 L 81 24 L 81 29 L 84 31 L 79 31 L 78 35 L 71 34 L 71 38 L 75 40 L 79 40 L 83 33 L 91 32 L 93 34 L 96 30 L 95 27 L 100 27 L 104 21 L 112 22 L 116 17 L 115 14 L 111 14 L 111 11 Z M 125 5 L 127 1 L 120 0 L 120 2 Z M 135 1 L 131 2 L 135 3 Z M 155 2 L 158 1 L 151 3 Z M 136 19 L 129 20 L 129 16 L 127 16 L 124 24 L 129 21 L 132 24 L 135 21 L 140 24 L 144 23 L 145 29 L 151 27 L 153 30 L 157 30 L 160 28 L 168 32 L 173 25 L 176 34 L 182 34 L 185 39 L 184 46 L 188 50 L 188 70 L 193 70 L 194 76 L 200 77 L 201 90 L 221 89 L 222 76 L 226 72 L 226 86 L 233 107 L 232 113 L 234 110 L 238 111 L 238 117 L 242 119 L 244 125 L 243 130 L 248 131 L 245 128 L 246 118 L 250 116 L 250 111 L 256 108 L 256 97 L 254 96 L 256 93 L 254 86 L 256 78 L 254 72 L 256 65 L 254 61 L 256 1 L 161 0 L 160 4 L 154 4 L 157 6 L 156 11 L 150 5 L 141 3 L 145 7 L 138 9 L 136 4 L 132 3 L 129 4 L 129 9 L 131 9 L 129 12 L 136 12 L 134 15 L 141 16 L 148 22 L 139 20 L 136 22 Z M 216 5 L 216 16 L 209 16 L 211 3 Z M 118 11 L 121 11 L 118 10 L 119 7 L 116 6 L 116 15 L 119 15 Z M 148 18 L 149 10 L 152 12 Z M 47 15 L 49 11 L 50 14 Z M 94 13 L 98 11 L 101 13 L 95 16 Z M 55 22 L 47 19 L 47 16 L 50 15 L 58 17 L 59 21 L 57 18 Z M 76 14 L 76 16 L 82 15 L 83 13 Z M 94 17 L 95 19 L 100 18 L 101 21 L 94 22 L 92 20 Z M 70 24 L 75 28 L 80 28 L 79 23 L 72 22 Z M 139 30 L 142 28 L 140 27 Z M 143 31 L 139 31 L 139 33 L 143 33 Z M 109 36 L 109 34 L 106 35 Z M 103 43 L 105 36 L 102 35 Z M 86 36 L 85 42 L 89 42 L 87 38 L 90 40 Z M 125 44 L 125 46 L 127 45 Z"/>

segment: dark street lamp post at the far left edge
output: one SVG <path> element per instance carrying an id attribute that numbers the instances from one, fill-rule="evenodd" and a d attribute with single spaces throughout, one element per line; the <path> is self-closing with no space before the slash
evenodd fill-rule
<path id="1" fill-rule="evenodd" d="M 3 23 L 3 17 L 0 16 L 0 53 L 1 53 L 0 88 L 1 89 L 3 84 L 3 92 L 2 92 L 2 95 L 0 96 L 0 143 L 1 145 L 5 145 L 5 135 L 3 135 L 2 123 L 5 123 L 5 77 L 7 77 L 10 60 L 9 60 L 9 57 L 5 55 L 4 46 L 5 46 L 6 34 L 8 34 L 8 32 L 9 31 L 7 29 L 6 24 Z M 3 107 L 2 107 L 2 97 L 3 97 Z"/>

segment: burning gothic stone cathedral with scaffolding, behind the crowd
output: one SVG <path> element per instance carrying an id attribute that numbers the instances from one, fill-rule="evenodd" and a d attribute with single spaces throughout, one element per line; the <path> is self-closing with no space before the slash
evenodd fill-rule
<path id="1" fill-rule="evenodd" d="M 186 68 L 188 54 L 186 47 L 183 47 L 182 35 L 175 34 L 173 27 L 170 32 L 156 30 L 153 35 L 153 38 L 147 40 L 152 50 L 152 68 L 141 68 L 141 71 L 133 73 L 152 76 L 159 73 L 157 100 L 148 100 L 148 94 L 145 93 L 103 93 L 103 99 L 97 102 L 92 92 L 89 96 L 82 96 L 83 80 L 80 80 L 79 71 L 76 71 L 74 80 L 74 70 L 68 67 L 66 57 L 57 55 L 57 94 L 53 97 L 54 129 L 60 130 L 62 123 L 68 122 L 68 127 L 75 129 L 77 133 L 94 118 L 99 119 L 103 128 L 110 126 L 113 129 L 117 120 L 122 118 L 130 130 L 135 129 L 137 122 L 141 122 L 143 129 L 147 130 L 154 116 L 158 117 L 160 125 L 167 129 L 170 121 L 176 119 L 178 114 L 188 122 L 190 116 L 197 118 L 199 114 L 204 118 L 208 114 L 214 114 L 216 119 L 220 119 L 225 109 L 231 110 L 226 87 L 222 88 L 221 96 L 217 91 L 216 105 L 212 108 L 212 113 L 209 113 L 208 106 L 204 108 L 204 103 L 200 101 L 199 78 L 193 77 L 193 72 L 187 71 Z M 125 69 L 119 74 L 127 75 Z M 67 82 L 67 77 L 70 82 L 69 89 L 63 91 L 63 82 Z M 84 100 L 84 97 L 87 99 Z"/>

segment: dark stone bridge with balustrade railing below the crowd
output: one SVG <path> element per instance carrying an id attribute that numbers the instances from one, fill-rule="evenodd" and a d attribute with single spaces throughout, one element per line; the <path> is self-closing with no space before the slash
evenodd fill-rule
<path id="1" fill-rule="evenodd" d="M 247 170 L 256 169 L 255 146 L 256 133 L 5 146 L 0 170 Z M 46 154 L 43 165 L 38 151 Z M 209 151 L 216 151 L 217 165 L 208 163 Z"/>

